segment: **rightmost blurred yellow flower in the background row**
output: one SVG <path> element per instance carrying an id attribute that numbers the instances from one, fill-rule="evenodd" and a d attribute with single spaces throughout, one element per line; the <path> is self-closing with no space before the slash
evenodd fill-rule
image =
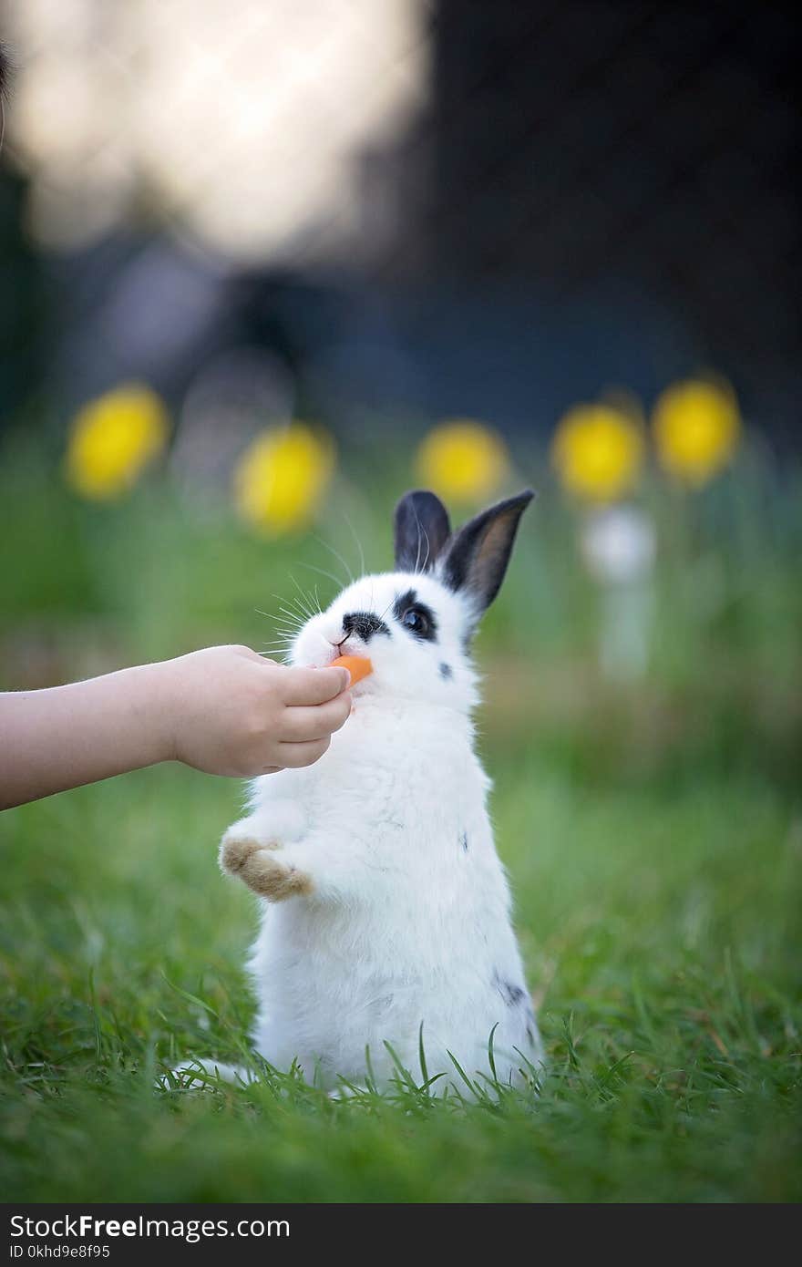
<path id="1" fill-rule="evenodd" d="M 726 466 L 741 435 L 737 400 L 726 383 L 675 383 L 659 398 L 652 424 L 663 466 L 696 487 Z"/>

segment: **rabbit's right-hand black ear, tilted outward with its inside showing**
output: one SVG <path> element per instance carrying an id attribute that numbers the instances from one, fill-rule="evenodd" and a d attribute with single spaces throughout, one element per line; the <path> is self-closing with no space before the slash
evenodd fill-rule
<path id="1" fill-rule="evenodd" d="M 478 614 L 498 594 L 518 521 L 535 494 L 530 488 L 469 519 L 449 546 L 443 561 L 443 580 L 450 589 L 466 590 L 478 606 Z"/>

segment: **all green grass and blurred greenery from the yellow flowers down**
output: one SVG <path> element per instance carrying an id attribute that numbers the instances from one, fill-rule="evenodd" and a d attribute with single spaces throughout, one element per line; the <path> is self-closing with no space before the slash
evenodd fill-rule
<path id="1" fill-rule="evenodd" d="M 3 471 L 5 687 L 258 646 L 290 573 L 327 598 L 308 568 L 341 570 L 314 536 L 264 542 L 158 485 L 92 507 L 38 454 Z M 4 1200 L 799 1200 L 802 516 L 791 478 L 753 476 L 651 492 L 642 678 L 598 668 L 599 595 L 556 497 L 479 640 L 538 1095 L 334 1102 L 269 1073 L 156 1090 L 181 1058 L 242 1049 L 256 921 L 215 862 L 242 788 L 163 767 L 0 816 Z M 370 566 L 404 479 L 348 489 Z M 353 565 L 340 502 L 318 532 Z"/>

